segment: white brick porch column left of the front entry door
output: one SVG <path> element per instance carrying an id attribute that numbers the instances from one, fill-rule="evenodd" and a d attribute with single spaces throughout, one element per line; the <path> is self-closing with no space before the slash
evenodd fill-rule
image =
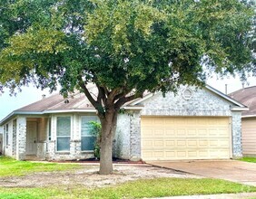
<path id="1" fill-rule="evenodd" d="M 17 118 L 17 145 L 16 145 L 16 159 L 24 160 L 25 159 L 25 142 L 26 142 L 26 118 L 18 117 Z"/>

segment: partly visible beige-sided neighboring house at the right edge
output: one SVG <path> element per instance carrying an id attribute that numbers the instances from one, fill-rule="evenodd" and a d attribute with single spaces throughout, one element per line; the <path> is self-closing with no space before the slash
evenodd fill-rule
<path id="1" fill-rule="evenodd" d="M 249 108 L 241 114 L 242 154 L 256 156 L 256 86 L 237 90 L 230 96 Z"/>

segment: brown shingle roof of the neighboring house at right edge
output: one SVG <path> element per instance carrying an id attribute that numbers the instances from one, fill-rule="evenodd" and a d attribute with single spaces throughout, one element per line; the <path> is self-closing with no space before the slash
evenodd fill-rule
<path id="1" fill-rule="evenodd" d="M 237 90 L 232 92 L 230 96 L 249 108 L 249 110 L 241 113 L 242 116 L 256 116 L 256 86 Z"/>

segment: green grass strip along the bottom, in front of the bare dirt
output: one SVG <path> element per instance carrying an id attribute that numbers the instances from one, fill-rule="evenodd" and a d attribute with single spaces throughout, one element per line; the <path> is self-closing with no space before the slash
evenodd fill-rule
<path id="1" fill-rule="evenodd" d="M 231 194 L 256 192 L 256 187 L 217 179 L 156 178 L 121 185 L 88 189 L 74 187 L 0 188 L 0 198 L 143 198 L 192 194 Z"/>

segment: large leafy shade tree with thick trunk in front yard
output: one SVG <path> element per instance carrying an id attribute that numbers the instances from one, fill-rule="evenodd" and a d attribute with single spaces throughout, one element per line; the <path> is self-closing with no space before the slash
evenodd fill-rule
<path id="1" fill-rule="evenodd" d="M 110 174 L 123 104 L 145 90 L 202 86 L 255 64 L 252 4 L 239 0 L 1 0 L 0 88 L 80 90 L 102 124 Z M 254 57 L 253 57 L 254 56 Z M 205 71 L 204 69 L 207 69 Z M 88 90 L 94 83 L 97 94 Z"/>

